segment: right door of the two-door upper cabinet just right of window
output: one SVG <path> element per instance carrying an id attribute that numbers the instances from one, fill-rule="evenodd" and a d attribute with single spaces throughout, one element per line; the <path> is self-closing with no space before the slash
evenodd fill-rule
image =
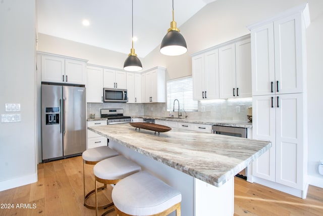
<path id="1" fill-rule="evenodd" d="M 219 51 L 204 54 L 204 98 L 219 99 Z"/>

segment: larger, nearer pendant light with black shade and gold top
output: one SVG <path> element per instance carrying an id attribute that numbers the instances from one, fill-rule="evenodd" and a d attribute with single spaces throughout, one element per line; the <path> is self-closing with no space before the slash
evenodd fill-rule
<path id="1" fill-rule="evenodd" d="M 167 34 L 161 41 L 159 52 L 167 56 L 179 56 L 187 52 L 186 41 L 174 21 L 174 0 L 171 28 L 168 29 Z"/>

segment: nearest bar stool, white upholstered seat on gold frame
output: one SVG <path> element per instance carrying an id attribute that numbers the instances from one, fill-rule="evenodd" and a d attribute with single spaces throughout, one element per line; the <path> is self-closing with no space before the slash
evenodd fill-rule
<path id="1" fill-rule="evenodd" d="M 116 215 L 181 215 L 182 195 L 146 171 L 121 180 L 112 190 Z"/>

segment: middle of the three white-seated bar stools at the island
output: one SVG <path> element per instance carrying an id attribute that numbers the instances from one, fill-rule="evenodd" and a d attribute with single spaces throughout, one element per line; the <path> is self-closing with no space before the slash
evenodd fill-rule
<path id="1" fill-rule="evenodd" d="M 104 159 L 93 167 L 95 176 L 95 188 L 97 188 L 97 182 L 103 184 L 117 184 L 120 180 L 139 172 L 141 167 L 135 162 L 125 158 L 122 155 Z M 118 184 L 117 184 L 118 185 Z M 95 203 L 97 206 L 97 190 L 95 190 Z M 111 202 L 109 206 L 113 206 Z M 98 208 L 96 208 L 96 215 L 98 215 Z M 102 215 L 105 215 L 115 210 L 114 207 L 105 211 Z"/>

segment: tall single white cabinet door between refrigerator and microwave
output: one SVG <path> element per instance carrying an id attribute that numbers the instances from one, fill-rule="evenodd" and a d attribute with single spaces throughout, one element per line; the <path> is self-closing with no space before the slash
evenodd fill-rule
<path id="1" fill-rule="evenodd" d="M 87 67 L 86 84 L 87 103 L 103 102 L 103 69 L 99 67 Z"/>

